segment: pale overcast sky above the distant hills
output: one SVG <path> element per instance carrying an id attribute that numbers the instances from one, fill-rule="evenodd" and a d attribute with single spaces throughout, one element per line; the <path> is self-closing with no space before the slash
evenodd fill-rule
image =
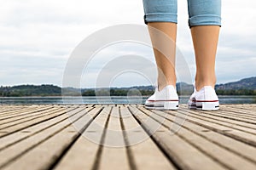
<path id="1" fill-rule="evenodd" d="M 141 0 L 0 0 L 0 85 L 54 84 L 62 86 L 62 77 L 73 50 L 84 38 L 108 26 L 143 23 Z M 222 28 L 216 60 L 217 83 L 233 82 L 256 73 L 256 2 L 224 0 Z M 188 26 L 186 0 L 178 0 L 177 48 L 186 60 L 190 77 L 195 76 L 195 57 Z M 124 32 L 125 34 L 125 32 Z M 97 51 L 84 65 L 80 86 L 96 86 L 99 73 L 111 78 L 110 86 L 148 85 L 149 81 L 136 71 L 111 74 L 109 63 L 147 67 L 143 56 L 154 63 L 150 47 L 137 42 L 120 42 Z M 119 63 L 118 63 L 119 62 Z M 107 66 L 106 66 L 107 65 Z M 151 65 L 152 66 L 152 65 Z M 148 73 L 156 77 L 154 65 Z M 107 69 L 106 69 L 107 68 Z M 108 74 L 109 71 L 109 74 Z M 108 75 L 108 76 L 107 76 Z M 112 75 L 112 76 L 109 76 Z M 183 77 L 180 73 L 179 77 Z M 180 78 L 179 80 L 183 80 Z M 107 81 L 108 82 L 108 81 Z M 193 82 L 190 81 L 189 83 Z"/>

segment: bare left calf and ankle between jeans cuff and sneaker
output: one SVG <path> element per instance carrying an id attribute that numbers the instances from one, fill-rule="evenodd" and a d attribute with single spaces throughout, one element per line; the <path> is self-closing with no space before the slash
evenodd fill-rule
<path id="1" fill-rule="evenodd" d="M 164 41 L 153 28 L 158 29 L 165 33 L 172 41 Z M 151 22 L 148 23 L 148 31 L 154 48 L 154 57 L 156 65 L 158 66 L 158 88 L 161 90 L 167 85 L 176 86 L 175 75 L 175 54 L 176 54 L 176 36 L 177 36 L 177 24 L 171 22 Z M 165 48 L 168 51 L 165 56 L 161 54 L 156 47 Z"/>

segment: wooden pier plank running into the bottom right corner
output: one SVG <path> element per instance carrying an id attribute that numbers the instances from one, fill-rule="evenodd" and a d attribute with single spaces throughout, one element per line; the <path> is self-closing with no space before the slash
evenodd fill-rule
<path id="1" fill-rule="evenodd" d="M 147 110 L 142 109 L 147 114 Z M 158 114 L 152 114 L 152 117 L 157 121 L 160 119 L 160 116 L 165 116 L 161 111 L 154 111 L 158 112 Z M 167 128 L 170 127 L 172 122 L 166 119 L 166 122 L 163 122 L 163 125 Z M 211 140 L 207 140 L 206 138 L 198 135 L 198 133 L 194 133 L 191 131 L 190 128 L 180 128 L 177 132 L 177 135 L 182 139 L 185 139 L 190 144 L 193 144 L 195 148 L 201 150 L 202 152 L 206 153 L 208 156 L 211 156 L 213 160 L 218 161 L 220 164 L 224 165 L 224 167 L 230 169 L 253 169 L 256 166 L 256 163 L 251 161 L 247 161 L 241 156 L 236 155 L 230 150 L 226 150 L 223 147 L 220 147 L 218 144 L 212 143 Z M 229 160 L 229 161 L 228 161 Z"/>

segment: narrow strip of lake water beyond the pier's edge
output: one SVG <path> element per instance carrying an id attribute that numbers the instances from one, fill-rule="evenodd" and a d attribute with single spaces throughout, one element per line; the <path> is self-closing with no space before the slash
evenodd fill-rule
<path id="1" fill-rule="evenodd" d="M 148 97 L 4 97 L 0 105 L 82 105 L 82 104 L 144 104 Z M 220 104 L 256 104 L 256 96 L 218 96 Z M 186 104 L 189 96 L 181 96 L 180 103 Z"/>

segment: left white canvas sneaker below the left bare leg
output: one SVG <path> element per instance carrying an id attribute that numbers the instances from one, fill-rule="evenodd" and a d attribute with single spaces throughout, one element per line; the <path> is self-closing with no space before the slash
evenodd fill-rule
<path id="1" fill-rule="evenodd" d="M 176 88 L 172 85 L 166 86 L 162 90 L 155 88 L 154 94 L 145 102 L 145 108 L 155 110 L 177 110 L 178 96 Z"/>

